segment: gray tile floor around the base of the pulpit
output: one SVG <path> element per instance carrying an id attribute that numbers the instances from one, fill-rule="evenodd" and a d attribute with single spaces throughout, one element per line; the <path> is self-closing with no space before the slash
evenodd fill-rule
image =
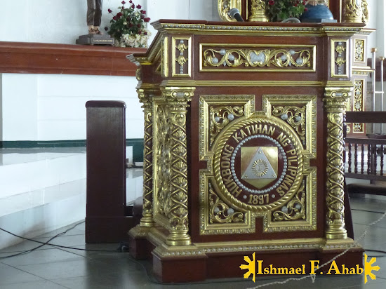
<path id="1" fill-rule="evenodd" d="M 366 225 L 377 220 L 386 210 L 386 201 L 371 199 L 353 199 L 352 214 L 354 234 L 360 236 Z M 52 231 L 36 238 L 46 242 L 56 234 L 73 225 Z M 77 225 L 67 233 L 53 239 L 51 243 L 71 246 L 78 249 L 54 248 L 43 246 L 30 253 L 4 258 L 39 246 L 32 241 L 24 241 L 4 250 L 0 250 L 0 288 L 1 289 L 105 289 L 105 288 L 254 288 L 257 285 L 282 282 L 286 278 L 258 279 L 256 283 L 240 278 L 209 280 L 203 283 L 165 285 L 154 280 L 149 262 L 136 262 L 128 253 L 119 253 L 119 244 L 85 244 L 84 223 Z M 364 276 L 318 276 L 315 283 L 310 278 L 302 281 L 289 281 L 285 284 L 267 285 L 263 288 L 386 288 L 386 254 L 371 250 L 386 250 L 386 217 L 373 227 L 361 243 L 369 256 L 377 257 L 376 280 L 369 279 L 364 284 Z"/>

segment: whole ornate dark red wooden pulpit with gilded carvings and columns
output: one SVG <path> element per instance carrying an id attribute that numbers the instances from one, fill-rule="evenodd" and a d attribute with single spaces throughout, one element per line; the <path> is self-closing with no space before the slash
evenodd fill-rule
<path id="1" fill-rule="evenodd" d="M 310 271 L 350 249 L 336 262 L 361 266 L 342 124 L 362 26 L 154 23 L 152 46 L 130 57 L 145 148 L 143 217 L 129 234 L 161 281 L 241 277 L 253 253 Z"/>

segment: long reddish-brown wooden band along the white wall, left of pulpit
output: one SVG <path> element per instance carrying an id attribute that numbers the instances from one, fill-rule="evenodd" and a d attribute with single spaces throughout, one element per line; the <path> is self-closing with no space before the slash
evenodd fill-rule
<path id="1" fill-rule="evenodd" d="M 135 76 L 126 55 L 146 48 L 0 41 L 0 73 Z"/>

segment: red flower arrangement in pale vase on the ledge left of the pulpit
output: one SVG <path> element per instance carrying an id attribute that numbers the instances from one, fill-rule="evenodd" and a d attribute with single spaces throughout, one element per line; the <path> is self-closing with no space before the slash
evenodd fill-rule
<path id="1" fill-rule="evenodd" d="M 146 27 L 150 18 L 145 17 L 146 11 L 139 4 L 135 6 L 132 0 L 128 1 L 127 8 L 125 1 L 121 4 L 116 15 L 111 9 L 107 10 L 113 17 L 110 27 L 105 27 L 105 30 L 109 30 L 107 33 L 115 38 L 115 46 L 147 47 L 150 32 Z"/>

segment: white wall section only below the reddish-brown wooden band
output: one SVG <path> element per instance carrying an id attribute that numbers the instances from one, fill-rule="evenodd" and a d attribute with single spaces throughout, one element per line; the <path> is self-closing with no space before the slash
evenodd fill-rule
<path id="1" fill-rule="evenodd" d="M 134 77 L 3 74 L 2 80 L 3 140 L 84 140 L 88 100 L 126 102 L 126 137 L 143 137 Z"/>

